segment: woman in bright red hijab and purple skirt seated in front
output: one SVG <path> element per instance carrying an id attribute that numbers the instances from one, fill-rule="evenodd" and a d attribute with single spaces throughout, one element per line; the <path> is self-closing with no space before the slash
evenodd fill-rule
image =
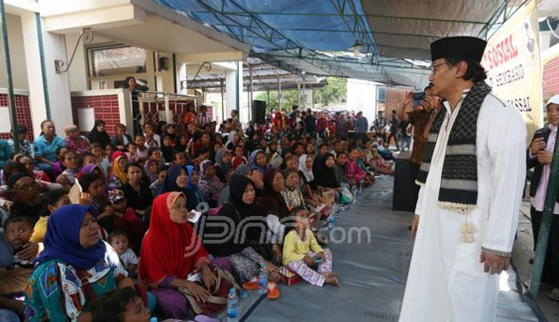
<path id="1" fill-rule="evenodd" d="M 190 214 L 182 192 L 168 192 L 155 198 L 149 230 L 141 247 L 140 283 L 152 287 L 157 297 L 155 309 L 167 318 L 185 320 L 190 316 L 190 304 L 175 290 L 177 287 L 188 288 L 198 301 L 210 297 L 206 288 L 187 280 L 188 274 L 200 269 L 207 287 L 216 281 L 209 255 L 188 222 Z M 223 263 L 224 266 L 230 268 L 230 262 Z"/>

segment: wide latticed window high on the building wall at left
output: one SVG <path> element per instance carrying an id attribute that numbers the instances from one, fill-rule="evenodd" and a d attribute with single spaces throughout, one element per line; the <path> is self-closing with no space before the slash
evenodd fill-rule
<path id="1" fill-rule="evenodd" d="M 122 73 L 145 73 L 145 49 L 134 46 L 90 48 L 89 75 L 91 77 Z"/>

